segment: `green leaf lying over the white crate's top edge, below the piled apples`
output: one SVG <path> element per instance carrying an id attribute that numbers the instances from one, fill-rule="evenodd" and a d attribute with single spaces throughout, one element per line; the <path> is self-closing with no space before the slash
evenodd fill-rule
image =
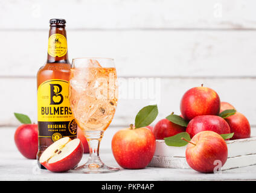
<path id="1" fill-rule="evenodd" d="M 175 146 L 175 147 L 181 147 L 181 146 L 187 145 L 188 142 L 184 141 L 181 138 L 187 139 L 187 141 L 191 140 L 190 139 L 190 134 L 188 134 L 187 132 L 181 132 L 181 133 L 178 133 L 174 136 L 164 138 L 164 142 L 168 146 Z"/>

